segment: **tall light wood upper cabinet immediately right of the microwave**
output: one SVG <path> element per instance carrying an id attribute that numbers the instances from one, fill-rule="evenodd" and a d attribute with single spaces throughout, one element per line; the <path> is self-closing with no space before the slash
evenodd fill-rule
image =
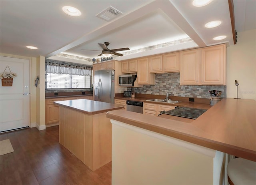
<path id="1" fill-rule="evenodd" d="M 150 74 L 149 72 L 149 60 L 148 58 L 141 58 L 137 60 L 138 65 L 138 84 L 141 85 L 154 85 L 155 84 L 155 74 Z"/>

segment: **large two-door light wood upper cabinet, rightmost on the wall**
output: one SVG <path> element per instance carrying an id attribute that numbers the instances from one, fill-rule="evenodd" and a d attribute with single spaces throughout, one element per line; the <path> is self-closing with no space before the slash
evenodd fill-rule
<path id="1" fill-rule="evenodd" d="M 226 44 L 180 52 L 180 85 L 226 85 Z"/>

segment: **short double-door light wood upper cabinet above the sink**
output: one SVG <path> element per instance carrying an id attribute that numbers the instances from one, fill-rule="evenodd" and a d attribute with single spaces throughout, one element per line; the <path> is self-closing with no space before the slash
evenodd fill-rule
<path id="1" fill-rule="evenodd" d="M 158 55 L 149 58 L 150 73 L 179 72 L 179 53 Z"/>

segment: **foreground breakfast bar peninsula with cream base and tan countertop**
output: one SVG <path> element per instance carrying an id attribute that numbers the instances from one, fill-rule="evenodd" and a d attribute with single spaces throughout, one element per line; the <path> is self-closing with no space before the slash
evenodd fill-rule
<path id="1" fill-rule="evenodd" d="M 255 112 L 255 100 L 232 98 L 191 123 L 109 111 L 112 184 L 224 184 L 227 154 L 256 161 Z"/>

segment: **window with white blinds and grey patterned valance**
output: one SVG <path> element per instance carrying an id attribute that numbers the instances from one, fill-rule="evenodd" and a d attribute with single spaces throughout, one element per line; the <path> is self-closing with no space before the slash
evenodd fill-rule
<path id="1" fill-rule="evenodd" d="M 46 89 L 91 88 L 91 76 L 91 67 L 46 62 Z"/>

